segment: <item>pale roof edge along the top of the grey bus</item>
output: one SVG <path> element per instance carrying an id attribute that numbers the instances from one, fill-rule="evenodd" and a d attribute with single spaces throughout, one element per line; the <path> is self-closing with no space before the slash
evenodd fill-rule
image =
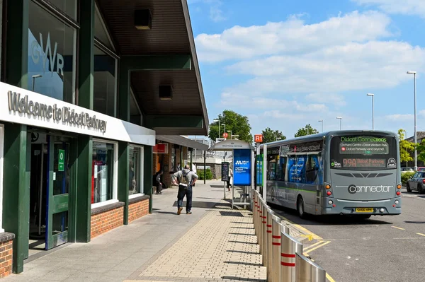
<path id="1" fill-rule="evenodd" d="M 296 137 L 293 139 L 285 139 L 285 140 L 280 140 L 280 141 L 274 141 L 274 142 L 269 142 L 266 143 L 267 146 L 279 146 L 280 144 L 285 144 L 285 143 L 293 143 L 293 142 L 308 142 L 308 141 L 317 141 L 317 140 L 321 140 L 324 138 L 328 138 L 330 136 L 341 136 L 341 135 L 345 135 L 345 134 L 382 134 L 382 135 L 386 135 L 386 136 L 395 136 L 397 137 L 398 135 L 395 134 L 394 132 L 391 131 L 379 131 L 379 130 L 334 130 L 334 131 L 327 131 L 327 132 L 323 132 L 323 133 L 317 133 L 317 134 L 311 134 L 311 135 L 306 135 L 306 136 L 301 136 L 301 137 Z M 260 145 L 260 148 L 263 147 L 264 144 Z"/>

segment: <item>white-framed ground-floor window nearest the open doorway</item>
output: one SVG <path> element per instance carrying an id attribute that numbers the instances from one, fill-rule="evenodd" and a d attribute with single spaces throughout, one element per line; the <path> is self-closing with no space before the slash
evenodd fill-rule
<path id="1" fill-rule="evenodd" d="M 91 163 L 91 204 L 92 207 L 117 201 L 118 150 L 117 143 L 93 141 Z"/>

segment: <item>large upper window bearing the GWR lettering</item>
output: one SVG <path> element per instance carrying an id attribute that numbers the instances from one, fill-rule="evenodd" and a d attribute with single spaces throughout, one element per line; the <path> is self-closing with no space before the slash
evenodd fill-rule
<path id="1" fill-rule="evenodd" d="M 76 30 L 33 1 L 29 15 L 28 89 L 75 103 Z"/>

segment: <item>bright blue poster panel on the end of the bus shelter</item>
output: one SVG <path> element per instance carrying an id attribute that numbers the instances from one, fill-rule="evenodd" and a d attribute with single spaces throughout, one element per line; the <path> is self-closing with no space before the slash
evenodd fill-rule
<path id="1" fill-rule="evenodd" d="M 251 185 L 251 151 L 235 149 L 233 151 L 233 184 Z"/>

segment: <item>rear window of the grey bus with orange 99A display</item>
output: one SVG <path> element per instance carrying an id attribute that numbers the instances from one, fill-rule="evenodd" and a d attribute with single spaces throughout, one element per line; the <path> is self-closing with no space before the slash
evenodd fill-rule
<path id="1" fill-rule="evenodd" d="M 397 141 L 390 136 L 334 136 L 331 168 L 387 170 L 397 168 Z"/>

